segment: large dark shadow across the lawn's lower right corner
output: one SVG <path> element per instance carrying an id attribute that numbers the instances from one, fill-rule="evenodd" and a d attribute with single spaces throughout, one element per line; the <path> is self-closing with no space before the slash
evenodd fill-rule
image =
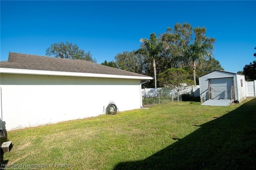
<path id="1" fill-rule="evenodd" d="M 202 106 L 204 107 L 204 106 Z M 256 169 L 256 98 L 152 156 L 119 169 Z M 194 125 L 198 126 L 198 125 Z"/>

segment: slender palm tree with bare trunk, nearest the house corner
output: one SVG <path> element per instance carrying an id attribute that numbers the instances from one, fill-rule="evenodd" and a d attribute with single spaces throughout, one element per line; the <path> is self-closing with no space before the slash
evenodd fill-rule
<path id="1" fill-rule="evenodd" d="M 156 59 L 159 57 L 162 50 L 162 42 L 156 37 L 155 33 L 150 34 L 150 39 L 142 38 L 140 39 L 140 42 L 142 42 L 141 47 L 136 51 L 136 53 L 141 53 L 152 61 L 154 84 L 156 88 Z"/>

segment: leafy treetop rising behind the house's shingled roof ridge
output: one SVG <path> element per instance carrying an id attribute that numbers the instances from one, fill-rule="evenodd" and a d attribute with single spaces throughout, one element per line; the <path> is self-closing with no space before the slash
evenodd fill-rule
<path id="1" fill-rule="evenodd" d="M 82 59 L 97 62 L 95 58 L 92 59 L 90 51 L 86 53 L 83 49 L 79 49 L 77 45 L 73 45 L 69 42 L 52 43 L 50 47 L 46 49 L 46 55 L 54 55 L 55 57 L 65 59 Z"/>

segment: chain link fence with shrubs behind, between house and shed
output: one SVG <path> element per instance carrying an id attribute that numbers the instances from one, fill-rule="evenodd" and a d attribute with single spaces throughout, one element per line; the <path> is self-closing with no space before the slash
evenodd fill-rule
<path id="1" fill-rule="evenodd" d="M 184 95 L 184 94 L 183 94 Z M 152 89 L 150 91 L 142 91 L 142 104 L 153 105 L 165 102 L 180 102 L 182 95 L 178 91 L 170 89 Z"/>

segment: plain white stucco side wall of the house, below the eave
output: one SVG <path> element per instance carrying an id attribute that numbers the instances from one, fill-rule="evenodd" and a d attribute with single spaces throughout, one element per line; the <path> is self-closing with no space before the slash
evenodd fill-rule
<path id="1" fill-rule="evenodd" d="M 1 74 L 6 130 L 104 114 L 110 101 L 119 111 L 140 108 L 140 80 Z"/>

